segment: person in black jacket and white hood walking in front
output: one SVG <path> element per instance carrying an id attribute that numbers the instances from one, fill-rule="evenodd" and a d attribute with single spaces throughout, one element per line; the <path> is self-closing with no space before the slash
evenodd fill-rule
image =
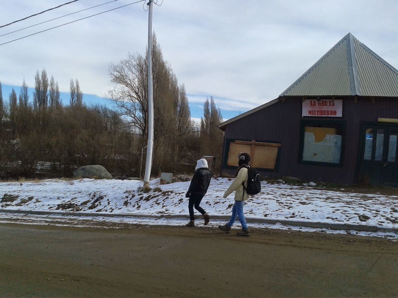
<path id="1" fill-rule="evenodd" d="M 211 180 L 211 172 L 209 166 L 207 165 L 207 160 L 202 158 L 197 161 L 195 168 L 195 174 L 192 177 L 191 184 L 185 197 L 189 197 L 188 210 L 189 210 L 189 223 L 186 226 L 195 226 L 195 217 L 193 216 L 193 207 L 203 215 L 205 220 L 205 225 L 210 221 L 210 215 L 206 213 L 199 205 L 203 199 L 203 196 L 209 188 Z"/>

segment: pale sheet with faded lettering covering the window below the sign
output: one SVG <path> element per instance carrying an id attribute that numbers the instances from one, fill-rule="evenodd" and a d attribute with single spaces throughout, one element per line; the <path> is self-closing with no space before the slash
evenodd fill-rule
<path id="1" fill-rule="evenodd" d="M 304 132 L 303 161 L 340 163 L 341 135 L 326 134 L 317 139 L 317 132 Z"/>

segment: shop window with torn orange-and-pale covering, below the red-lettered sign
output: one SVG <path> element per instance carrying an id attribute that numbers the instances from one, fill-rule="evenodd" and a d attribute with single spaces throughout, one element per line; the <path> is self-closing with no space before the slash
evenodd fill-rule
<path id="1" fill-rule="evenodd" d="M 341 164 L 343 125 L 304 122 L 302 126 L 302 161 Z"/>

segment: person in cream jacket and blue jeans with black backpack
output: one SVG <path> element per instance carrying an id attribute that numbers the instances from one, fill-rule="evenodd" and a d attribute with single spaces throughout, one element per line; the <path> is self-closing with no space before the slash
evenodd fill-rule
<path id="1" fill-rule="evenodd" d="M 230 185 L 230 187 L 225 191 L 224 199 L 228 197 L 232 192 L 235 191 L 235 203 L 234 206 L 232 207 L 232 215 L 231 219 L 228 223 L 224 224 L 223 226 L 219 226 L 220 230 L 223 230 L 226 233 L 231 232 L 231 226 L 234 224 L 236 220 L 236 215 L 238 215 L 240 224 L 242 225 L 242 230 L 237 232 L 236 234 L 238 236 L 249 236 L 250 235 L 250 230 L 248 228 L 248 225 L 246 223 L 245 216 L 243 214 L 243 206 L 244 202 L 250 197 L 245 191 L 245 188 L 247 187 L 248 184 L 248 167 L 250 167 L 249 162 L 250 162 L 250 155 L 247 153 L 239 153 L 238 155 L 239 161 L 239 168 L 236 172 L 236 176 L 234 179 L 234 182 Z"/>

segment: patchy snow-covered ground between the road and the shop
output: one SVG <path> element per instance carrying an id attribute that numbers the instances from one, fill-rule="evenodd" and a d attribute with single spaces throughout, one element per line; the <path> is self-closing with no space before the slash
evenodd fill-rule
<path id="1" fill-rule="evenodd" d="M 3 210 L 125 213 L 134 215 L 187 215 L 188 199 L 185 193 L 189 182 L 159 185 L 152 180 L 151 192 L 140 190 L 137 180 L 73 181 L 43 180 L 41 182 L 0 183 L 0 208 Z M 213 178 L 201 206 L 210 215 L 229 216 L 233 194 L 227 199 L 222 195 L 232 180 Z M 398 195 L 359 194 L 344 189 L 319 188 L 311 185 L 294 186 L 280 181 L 278 184 L 262 182 L 261 193 L 245 204 L 248 219 L 275 219 L 285 221 L 320 222 L 329 224 L 361 224 L 384 229 L 398 228 Z M 196 213 L 199 215 L 199 213 Z M 9 217 L 0 213 L 0 217 Z M 14 215 L 16 216 L 16 215 Z M 39 215 L 29 215 L 39 219 Z M 27 219 L 27 217 L 25 216 Z M 97 220 L 100 220 L 99 217 Z M 105 217 L 104 217 L 105 218 Z M 94 217 L 88 219 L 95 221 Z M 103 219 L 101 219 L 103 220 Z M 125 221 L 144 224 L 182 224 L 186 219 L 109 218 L 107 221 Z M 180 222 L 181 221 L 181 222 Z M 212 221 L 215 224 L 215 221 Z M 238 223 L 237 223 L 238 224 Z M 294 228 L 287 225 L 250 223 L 250 226 Z M 319 230 L 319 229 L 315 229 Z M 326 231 L 328 232 L 328 231 Z M 334 231 L 336 232 L 336 231 Z M 344 231 L 345 232 L 345 231 Z M 365 233 L 366 234 L 366 233 Z M 370 233 L 374 236 L 398 238 L 398 233 Z"/>

